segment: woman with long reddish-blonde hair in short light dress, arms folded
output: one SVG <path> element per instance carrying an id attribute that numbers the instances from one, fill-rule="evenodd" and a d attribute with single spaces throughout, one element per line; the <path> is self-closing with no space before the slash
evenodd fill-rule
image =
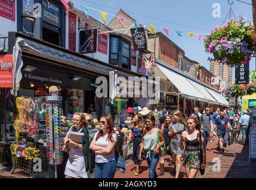
<path id="1" fill-rule="evenodd" d="M 180 110 L 175 110 L 172 115 L 174 116 L 174 121 L 176 124 L 169 128 L 168 135 L 171 136 L 171 153 L 172 160 L 175 166 L 175 178 L 178 178 L 181 170 L 181 159 L 184 154 L 184 150 L 180 148 L 180 135 L 186 130 L 187 122 L 184 119 Z"/>

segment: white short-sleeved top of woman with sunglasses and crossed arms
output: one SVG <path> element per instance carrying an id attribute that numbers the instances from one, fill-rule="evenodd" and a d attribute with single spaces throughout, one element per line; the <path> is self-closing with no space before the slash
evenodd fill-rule
<path id="1" fill-rule="evenodd" d="M 98 132 L 94 135 L 93 139 L 96 139 Z M 113 140 L 115 142 L 118 141 L 118 136 L 114 133 L 112 134 Z M 95 145 L 99 147 L 106 148 L 109 145 L 108 137 L 100 137 L 96 142 Z M 115 151 L 112 150 L 109 154 L 96 154 L 95 155 L 95 163 L 106 163 L 115 160 Z"/>

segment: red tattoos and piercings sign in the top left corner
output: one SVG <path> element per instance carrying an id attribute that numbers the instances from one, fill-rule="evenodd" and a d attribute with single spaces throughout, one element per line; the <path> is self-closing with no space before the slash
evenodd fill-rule
<path id="1" fill-rule="evenodd" d="M 0 0 L 0 16 L 15 21 L 15 0 Z"/>

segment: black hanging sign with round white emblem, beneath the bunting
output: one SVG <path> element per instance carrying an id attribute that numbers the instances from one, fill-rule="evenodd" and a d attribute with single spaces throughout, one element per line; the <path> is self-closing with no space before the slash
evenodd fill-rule
<path id="1" fill-rule="evenodd" d="M 134 50 L 147 50 L 146 33 L 143 27 L 131 29 L 131 36 Z"/>

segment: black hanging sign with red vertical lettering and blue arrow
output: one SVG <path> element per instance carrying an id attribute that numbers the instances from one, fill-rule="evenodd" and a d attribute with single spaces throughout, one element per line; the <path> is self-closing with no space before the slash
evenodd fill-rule
<path id="1" fill-rule="evenodd" d="M 80 52 L 95 53 L 97 50 L 97 30 L 83 30 L 79 32 Z"/>

